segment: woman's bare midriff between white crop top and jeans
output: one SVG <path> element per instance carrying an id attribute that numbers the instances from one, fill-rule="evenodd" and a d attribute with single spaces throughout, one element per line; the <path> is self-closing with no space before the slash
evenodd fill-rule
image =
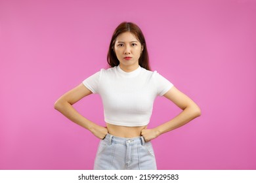
<path id="1" fill-rule="evenodd" d="M 110 135 L 114 135 L 116 137 L 124 137 L 124 138 L 140 137 L 141 136 L 140 133 L 142 129 L 146 129 L 146 125 L 128 127 L 128 126 L 112 125 L 108 123 L 106 123 L 106 127 L 108 128 L 108 133 Z"/>

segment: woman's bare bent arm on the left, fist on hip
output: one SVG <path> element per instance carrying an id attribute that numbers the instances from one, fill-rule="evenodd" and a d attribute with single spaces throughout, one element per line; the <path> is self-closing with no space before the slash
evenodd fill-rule
<path id="1" fill-rule="evenodd" d="M 92 92 L 83 84 L 79 84 L 79 86 L 62 95 L 54 103 L 54 108 L 75 124 L 81 125 L 82 127 L 85 127 L 86 129 L 91 131 L 91 133 L 93 133 L 93 135 L 95 135 L 99 139 L 104 139 L 104 137 L 108 133 L 108 129 L 87 120 L 85 117 L 79 114 L 79 112 L 77 112 L 74 107 L 72 107 L 74 103 L 76 103 L 83 97 L 90 95 L 91 93 Z"/>

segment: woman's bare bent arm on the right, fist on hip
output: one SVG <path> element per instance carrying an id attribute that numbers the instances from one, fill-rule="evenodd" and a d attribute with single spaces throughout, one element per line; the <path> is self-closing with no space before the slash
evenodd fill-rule
<path id="1" fill-rule="evenodd" d="M 201 110 L 198 105 L 196 105 L 196 103 L 194 103 L 194 101 L 184 93 L 175 88 L 175 86 L 165 93 L 164 96 L 175 103 L 175 105 L 183 111 L 169 122 L 165 122 L 154 129 L 143 129 L 141 131 L 141 135 L 144 137 L 146 142 L 155 139 L 163 133 L 181 127 L 201 115 Z"/>

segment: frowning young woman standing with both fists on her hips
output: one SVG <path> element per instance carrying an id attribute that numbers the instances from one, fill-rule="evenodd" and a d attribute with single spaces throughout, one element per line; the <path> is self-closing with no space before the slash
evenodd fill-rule
<path id="1" fill-rule="evenodd" d="M 108 50 L 110 69 L 101 69 L 65 93 L 54 108 L 101 139 L 94 169 L 156 169 L 151 140 L 200 116 L 200 108 L 169 80 L 150 71 L 146 41 L 140 28 L 123 22 Z M 106 127 L 81 116 L 72 105 L 98 93 Z M 147 129 L 154 99 L 164 96 L 182 112 L 169 122 Z"/>

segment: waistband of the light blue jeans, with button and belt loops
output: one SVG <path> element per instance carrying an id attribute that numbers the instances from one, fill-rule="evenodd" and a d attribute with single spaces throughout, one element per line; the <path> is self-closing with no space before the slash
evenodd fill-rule
<path id="1" fill-rule="evenodd" d="M 142 136 L 133 137 L 133 138 L 124 138 L 124 137 L 116 137 L 114 135 L 110 135 L 109 133 L 106 135 L 103 141 L 107 141 L 109 145 L 112 143 L 115 143 L 115 144 L 123 144 L 123 145 L 142 144 L 142 146 L 144 146 L 145 144 L 144 138 Z"/>

